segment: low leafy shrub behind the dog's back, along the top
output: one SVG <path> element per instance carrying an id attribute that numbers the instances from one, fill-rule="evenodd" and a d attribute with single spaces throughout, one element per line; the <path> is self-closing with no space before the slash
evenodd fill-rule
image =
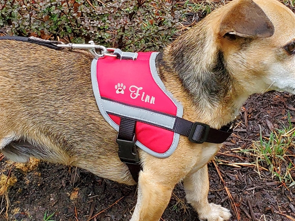
<path id="1" fill-rule="evenodd" d="M 60 39 L 127 51 L 158 51 L 219 1 L 0 0 L 8 35 Z"/>

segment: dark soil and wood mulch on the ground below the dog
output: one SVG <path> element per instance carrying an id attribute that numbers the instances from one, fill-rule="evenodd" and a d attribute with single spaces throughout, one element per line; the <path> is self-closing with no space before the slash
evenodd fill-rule
<path id="1" fill-rule="evenodd" d="M 225 142 L 215 164 L 209 163 L 209 201 L 229 208 L 233 214 L 231 221 L 236 221 L 237 216 L 225 187 L 233 197 L 240 221 L 294 221 L 295 186 L 286 188 L 268 171 L 255 166 L 239 168 L 222 164 L 255 162 L 236 153 L 236 148 L 250 148 L 252 140 L 259 140 L 260 128 L 267 137 L 270 125 L 277 128 L 287 125 L 288 111 L 295 116 L 294 102 L 295 97 L 287 93 L 252 96 L 240 112 L 235 133 Z M 295 154 L 294 149 L 290 151 Z M 9 221 L 42 221 L 45 213 L 55 213 L 51 218 L 54 221 L 88 221 L 105 209 L 92 221 L 128 221 L 136 204 L 136 186 L 121 185 L 75 167 L 36 161 L 24 166 L 2 159 L 0 176 L 3 174 L 17 179 L 7 193 L 11 204 Z M 295 179 L 295 171 L 292 176 Z M 7 220 L 6 203 L 3 196 L 1 221 Z M 195 211 L 185 202 L 181 184 L 177 184 L 162 220 L 198 221 Z"/>

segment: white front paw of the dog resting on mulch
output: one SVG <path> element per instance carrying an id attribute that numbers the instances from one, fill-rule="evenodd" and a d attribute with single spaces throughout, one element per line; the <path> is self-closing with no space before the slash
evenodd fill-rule
<path id="1" fill-rule="evenodd" d="M 231 213 L 228 209 L 214 203 L 209 204 L 211 210 L 207 214 L 200 214 L 200 221 L 228 221 L 231 218 Z"/>

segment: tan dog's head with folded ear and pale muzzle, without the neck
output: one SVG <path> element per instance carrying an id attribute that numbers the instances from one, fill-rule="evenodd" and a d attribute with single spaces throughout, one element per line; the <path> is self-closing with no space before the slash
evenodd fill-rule
<path id="1" fill-rule="evenodd" d="M 277 0 L 233 3 L 221 19 L 217 43 L 236 79 L 251 93 L 295 94 L 294 13 Z"/>

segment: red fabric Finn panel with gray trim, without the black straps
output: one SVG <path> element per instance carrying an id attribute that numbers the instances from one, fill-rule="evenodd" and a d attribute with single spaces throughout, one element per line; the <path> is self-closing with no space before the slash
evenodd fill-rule
<path id="1" fill-rule="evenodd" d="M 121 117 L 135 119 L 136 145 L 164 158 L 176 149 L 173 131 L 183 108 L 165 89 L 155 66 L 158 53 L 138 53 L 137 60 L 94 59 L 92 86 L 99 111 L 119 131 Z"/>

